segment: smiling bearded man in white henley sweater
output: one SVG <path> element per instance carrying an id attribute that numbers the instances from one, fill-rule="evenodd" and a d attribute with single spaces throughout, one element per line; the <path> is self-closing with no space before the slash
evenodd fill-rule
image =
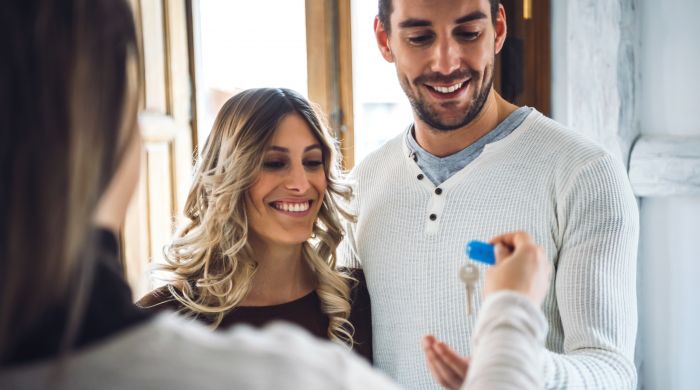
<path id="1" fill-rule="evenodd" d="M 380 0 L 374 25 L 414 120 L 352 173 L 358 220 L 341 253 L 364 268 L 375 364 L 429 388 L 422 335 L 469 355 L 464 243 L 525 230 L 555 268 L 545 385 L 634 388 L 639 222 L 620 162 L 493 90 L 498 1 Z"/>

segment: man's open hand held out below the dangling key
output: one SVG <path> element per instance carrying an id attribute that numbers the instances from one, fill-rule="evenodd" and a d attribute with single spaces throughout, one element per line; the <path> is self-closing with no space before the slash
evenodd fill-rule
<path id="1" fill-rule="evenodd" d="M 448 389 L 459 389 L 467 376 L 469 360 L 433 336 L 423 338 L 423 351 L 433 378 Z"/>

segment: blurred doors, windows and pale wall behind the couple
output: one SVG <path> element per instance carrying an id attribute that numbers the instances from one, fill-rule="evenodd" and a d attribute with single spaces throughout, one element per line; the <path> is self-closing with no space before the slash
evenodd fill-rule
<path id="1" fill-rule="evenodd" d="M 135 298 L 183 222 L 197 151 L 252 87 L 319 104 L 346 169 L 412 121 L 374 0 L 130 0 L 144 77 L 141 183 L 122 231 Z M 640 389 L 700 389 L 700 2 L 504 0 L 495 86 L 604 145 L 638 196 Z"/>

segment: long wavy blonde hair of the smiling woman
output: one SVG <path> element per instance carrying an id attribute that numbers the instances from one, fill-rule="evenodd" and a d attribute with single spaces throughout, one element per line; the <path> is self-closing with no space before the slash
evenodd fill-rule
<path id="1" fill-rule="evenodd" d="M 165 248 L 163 269 L 175 282 L 168 288 L 184 311 L 204 316 L 214 328 L 243 301 L 257 269 L 248 243 L 245 199 L 278 124 L 292 113 L 306 121 L 320 142 L 328 183 L 312 238 L 302 244 L 302 252 L 316 276 L 321 310 L 329 318 L 329 338 L 352 345 L 352 278 L 336 270 L 336 248 L 344 234 L 339 217 L 353 219 L 338 201 L 348 199 L 351 190 L 341 181 L 336 141 L 320 112 L 292 90 L 249 89 L 221 108 L 185 204 L 190 222 Z"/>

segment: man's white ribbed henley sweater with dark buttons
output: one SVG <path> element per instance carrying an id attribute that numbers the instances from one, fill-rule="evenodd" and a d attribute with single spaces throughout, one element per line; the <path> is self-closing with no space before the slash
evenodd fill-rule
<path id="1" fill-rule="evenodd" d="M 436 187 L 405 137 L 353 170 L 358 221 L 339 248 L 341 263 L 364 269 L 375 365 L 406 387 L 438 388 L 420 339 L 470 355 L 475 319 L 457 276 L 465 243 L 524 230 L 555 269 L 543 304 L 545 386 L 634 388 L 639 216 L 622 164 L 533 110 Z M 482 290 L 483 278 L 477 302 Z"/>

